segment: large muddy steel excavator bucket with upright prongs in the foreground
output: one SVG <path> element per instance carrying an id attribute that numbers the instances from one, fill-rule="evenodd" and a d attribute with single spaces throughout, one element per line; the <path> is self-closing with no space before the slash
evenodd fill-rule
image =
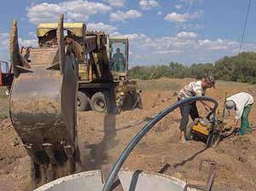
<path id="1" fill-rule="evenodd" d="M 32 159 L 36 186 L 75 171 L 78 68 L 65 47 L 62 14 L 56 37 L 55 46 L 20 50 L 15 20 L 10 32 L 10 119 Z"/>

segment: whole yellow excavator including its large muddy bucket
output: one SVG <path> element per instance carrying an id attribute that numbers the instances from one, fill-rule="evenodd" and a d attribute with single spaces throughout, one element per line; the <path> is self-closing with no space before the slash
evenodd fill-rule
<path id="1" fill-rule="evenodd" d="M 112 73 L 109 47 L 113 41 L 103 32 L 88 32 L 83 23 L 63 23 L 61 14 L 58 23 L 38 26 L 38 48 L 20 49 L 14 20 L 9 40 L 14 75 L 9 116 L 32 160 L 35 187 L 73 174 L 79 165 L 79 92 L 99 112 L 110 109 L 112 101 L 120 110 L 125 96 L 138 95 L 136 82 L 125 76 L 127 67 Z M 103 102 L 95 98 L 99 96 Z"/>

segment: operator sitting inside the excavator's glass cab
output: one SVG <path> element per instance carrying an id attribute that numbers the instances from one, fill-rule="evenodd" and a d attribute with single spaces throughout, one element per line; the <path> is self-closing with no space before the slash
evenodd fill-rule
<path id="1" fill-rule="evenodd" d="M 113 55 L 112 69 L 115 72 L 125 71 L 125 55 L 121 53 L 119 48 L 116 49 L 116 53 Z"/>

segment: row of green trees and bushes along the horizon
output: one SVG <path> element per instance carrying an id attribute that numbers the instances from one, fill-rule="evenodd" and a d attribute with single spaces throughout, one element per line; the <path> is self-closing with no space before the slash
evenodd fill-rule
<path id="1" fill-rule="evenodd" d="M 157 68 L 156 68 L 157 67 Z M 155 70 L 156 68 L 156 70 Z M 243 52 L 236 56 L 224 56 L 212 63 L 194 63 L 190 67 L 181 63 L 170 62 L 166 65 L 132 67 L 130 78 L 197 78 L 207 75 L 226 81 L 238 81 L 256 84 L 256 53 Z"/>

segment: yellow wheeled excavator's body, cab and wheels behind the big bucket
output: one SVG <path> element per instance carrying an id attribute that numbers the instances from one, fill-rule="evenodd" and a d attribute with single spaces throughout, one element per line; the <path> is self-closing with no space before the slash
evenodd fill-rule
<path id="1" fill-rule="evenodd" d="M 54 23 L 38 25 L 40 47 L 56 43 L 56 28 Z M 119 113 L 127 106 L 128 109 L 142 108 L 137 82 L 127 79 L 128 38 L 109 38 L 103 32 L 88 32 L 83 23 L 64 23 L 64 29 L 65 42 L 73 48 L 79 65 L 78 110 Z M 114 53 L 114 49 L 119 53 Z"/>

